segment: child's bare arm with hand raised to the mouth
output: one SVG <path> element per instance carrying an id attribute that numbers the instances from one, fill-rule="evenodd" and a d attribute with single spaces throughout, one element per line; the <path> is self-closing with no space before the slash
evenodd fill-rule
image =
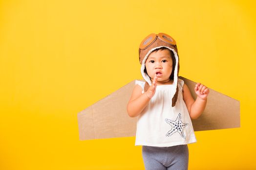
<path id="1" fill-rule="evenodd" d="M 137 117 L 143 109 L 149 104 L 150 99 L 154 96 L 156 89 L 156 80 L 155 75 L 152 85 L 149 89 L 142 94 L 142 88 L 139 85 L 135 85 L 130 100 L 127 104 L 127 113 L 129 117 Z"/>

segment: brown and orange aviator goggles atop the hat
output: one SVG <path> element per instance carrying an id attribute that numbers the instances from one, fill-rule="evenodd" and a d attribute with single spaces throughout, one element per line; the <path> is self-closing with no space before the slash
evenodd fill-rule
<path id="1" fill-rule="evenodd" d="M 170 45 L 172 45 L 172 46 L 175 46 L 176 45 L 176 41 L 170 36 L 170 35 L 168 35 L 168 34 L 165 34 L 165 33 L 159 33 L 159 34 L 149 34 L 142 42 L 141 42 L 141 44 L 140 44 L 140 50 L 144 50 L 144 49 L 147 49 L 149 46 L 150 46 L 150 44 L 152 44 L 156 39 L 157 39 L 157 37 L 160 39 L 160 40 L 162 40 L 162 41 L 164 41 L 164 42 L 166 42 L 166 43 L 168 43 L 168 44 L 170 44 Z"/>

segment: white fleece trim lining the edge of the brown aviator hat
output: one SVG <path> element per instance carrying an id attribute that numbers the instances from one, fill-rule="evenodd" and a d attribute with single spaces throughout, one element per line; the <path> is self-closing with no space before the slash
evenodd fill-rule
<path id="1" fill-rule="evenodd" d="M 177 83 L 178 83 L 178 54 L 177 54 L 177 52 L 175 51 L 175 50 L 173 50 L 173 49 L 171 49 L 170 47 L 167 47 L 167 46 L 159 46 L 159 47 L 155 47 L 155 48 L 153 48 L 153 49 L 151 49 L 148 53 L 147 53 L 147 55 L 144 57 L 144 59 L 143 59 L 143 61 L 142 61 L 142 65 L 141 65 L 141 74 L 142 74 L 142 77 L 144 78 L 144 80 L 146 81 L 146 82 L 148 82 L 148 84 L 149 84 L 149 86 L 152 84 L 151 83 L 151 80 L 150 80 L 150 77 L 149 77 L 149 75 L 147 74 L 147 73 L 145 73 L 144 72 L 144 69 L 146 68 L 146 60 L 147 60 L 147 58 L 148 58 L 148 56 L 149 56 L 149 54 L 152 52 L 152 51 L 154 51 L 155 49 L 159 49 L 159 48 L 161 48 L 161 47 L 166 47 L 166 48 L 168 48 L 169 50 L 171 50 L 172 52 L 173 52 L 173 54 L 174 54 L 174 57 L 175 57 L 175 60 L 176 60 L 176 64 L 175 64 L 175 68 L 174 68 L 174 80 L 173 80 L 173 88 L 174 88 L 174 93 L 172 94 L 172 96 L 171 96 L 171 99 L 173 98 L 173 96 L 174 96 L 174 94 L 176 93 L 176 86 L 177 86 Z"/>

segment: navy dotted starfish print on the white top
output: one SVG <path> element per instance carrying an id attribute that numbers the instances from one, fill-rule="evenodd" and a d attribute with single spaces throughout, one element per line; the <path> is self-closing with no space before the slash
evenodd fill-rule
<path id="1" fill-rule="evenodd" d="M 184 135 L 184 128 L 189 125 L 189 123 L 183 123 L 181 121 L 181 114 L 178 114 L 178 117 L 176 120 L 171 119 L 165 119 L 165 121 L 171 125 L 171 130 L 166 134 L 166 136 L 171 136 L 178 132 L 181 137 L 186 139 L 186 136 Z"/>

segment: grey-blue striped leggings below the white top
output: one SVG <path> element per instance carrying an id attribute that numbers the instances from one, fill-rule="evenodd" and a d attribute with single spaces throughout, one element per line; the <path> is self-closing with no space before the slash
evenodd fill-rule
<path id="1" fill-rule="evenodd" d="M 171 147 L 142 146 L 146 170 L 188 170 L 188 145 Z"/>

